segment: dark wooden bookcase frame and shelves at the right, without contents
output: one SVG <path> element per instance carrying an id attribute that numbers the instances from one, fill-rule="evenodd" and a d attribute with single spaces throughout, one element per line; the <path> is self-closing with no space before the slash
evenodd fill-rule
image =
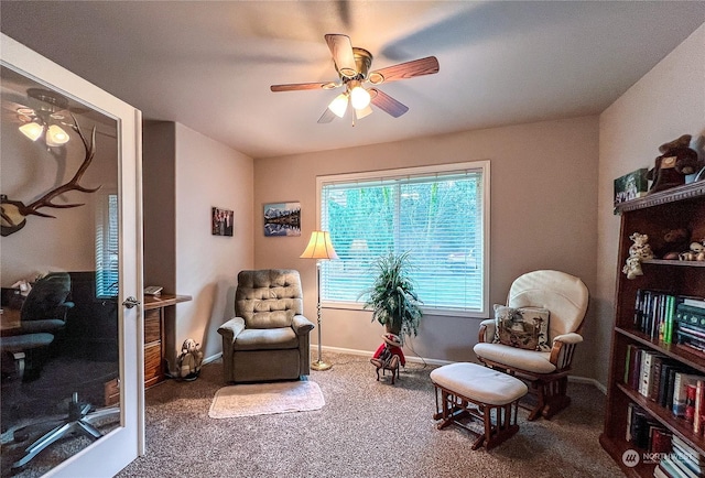
<path id="1" fill-rule="evenodd" d="M 647 233 L 651 239 L 663 236 L 665 230 L 687 228 L 693 239 L 705 238 L 705 182 L 687 184 L 651 194 L 618 205 L 621 214 L 619 235 L 618 272 L 615 295 L 615 327 L 608 377 L 605 428 L 600 435 L 603 447 L 622 467 L 628 476 L 652 477 L 655 465 L 640 461 L 634 467 L 622 463 L 625 452 L 639 449 L 627 442 L 628 409 L 631 402 L 641 406 L 650 420 L 660 423 L 674 436 L 705 455 L 705 438 L 692 431 L 692 424 L 675 419 L 671 410 L 644 398 L 625 383 L 627 350 L 636 345 L 662 354 L 669 359 L 687 366 L 705 376 L 705 355 L 693 352 L 674 344 L 664 344 L 640 332 L 634 326 L 636 297 L 639 290 L 663 291 L 674 295 L 705 296 L 705 262 L 653 259 L 643 261 L 643 275 L 628 280 L 621 272 L 633 232 Z M 652 242 L 652 240 L 650 240 Z M 674 334 L 675 336 L 675 334 Z M 675 339 L 673 340 L 675 343 Z"/>

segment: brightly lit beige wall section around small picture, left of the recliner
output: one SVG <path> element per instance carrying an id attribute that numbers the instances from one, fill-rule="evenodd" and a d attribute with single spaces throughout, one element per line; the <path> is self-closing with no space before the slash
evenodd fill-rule
<path id="1" fill-rule="evenodd" d="M 176 124 L 176 346 L 194 338 L 219 354 L 217 328 L 232 316 L 237 273 L 252 268 L 252 160 Z M 232 237 L 210 233 L 210 208 L 235 211 Z"/>

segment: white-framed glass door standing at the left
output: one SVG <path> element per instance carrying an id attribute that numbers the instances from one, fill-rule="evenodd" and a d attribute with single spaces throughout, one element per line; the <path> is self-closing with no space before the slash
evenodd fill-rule
<path id="1" fill-rule="evenodd" d="M 0 475 L 112 475 L 138 404 L 139 111 L 2 37 Z"/>

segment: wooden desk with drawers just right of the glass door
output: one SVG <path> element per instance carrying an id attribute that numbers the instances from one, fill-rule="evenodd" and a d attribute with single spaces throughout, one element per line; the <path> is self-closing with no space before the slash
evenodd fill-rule
<path id="1" fill-rule="evenodd" d="M 164 315 L 166 307 L 191 301 L 189 295 L 144 296 L 144 388 L 166 378 Z"/>

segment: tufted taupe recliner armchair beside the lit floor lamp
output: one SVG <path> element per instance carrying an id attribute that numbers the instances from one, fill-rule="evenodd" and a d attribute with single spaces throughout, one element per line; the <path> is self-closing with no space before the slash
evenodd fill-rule
<path id="1" fill-rule="evenodd" d="M 226 382 L 295 380 L 310 369 L 314 325 L 303 316 L 297 271 L 241 271 L 235 317 L 218 328 L 223 336 Z"/>

